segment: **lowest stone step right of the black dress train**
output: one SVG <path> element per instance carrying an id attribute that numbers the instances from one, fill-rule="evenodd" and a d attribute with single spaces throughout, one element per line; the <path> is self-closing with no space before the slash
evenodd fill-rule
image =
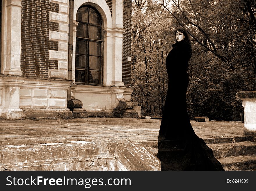
<path id="1" fill-rule="evenodd" d="M 239 155 L 218 158 L 224 170 L 238 171 L 238 170 L 255 170 L 256 169 L 256 155 Z"/>

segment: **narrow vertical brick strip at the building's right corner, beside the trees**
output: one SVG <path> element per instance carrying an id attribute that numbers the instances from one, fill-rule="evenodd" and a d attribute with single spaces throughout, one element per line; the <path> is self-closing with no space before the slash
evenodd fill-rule
<path id="1" fill-rule="evenodd" d="M 131 56 L 131 0 L 123 0 L 123 70 L 122 79 L 125 86 L 131 82 L 131 61 L 127 56 Z"/>

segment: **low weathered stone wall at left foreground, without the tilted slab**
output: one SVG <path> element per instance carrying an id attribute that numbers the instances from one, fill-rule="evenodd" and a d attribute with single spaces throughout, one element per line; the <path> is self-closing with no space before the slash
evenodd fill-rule
<path id="1" fill-rule="evenodd" d="M 8 145 L 0 151 L 0 170 L 127 170 L 94 142 Z"/>

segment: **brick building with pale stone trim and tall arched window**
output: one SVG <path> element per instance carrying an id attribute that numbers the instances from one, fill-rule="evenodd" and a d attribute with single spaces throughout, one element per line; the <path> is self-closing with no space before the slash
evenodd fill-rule
<path id="1" fill-rule="evenodd" d="M 131 0 L 1 0 L 0 14 L 1 118 L 136 117 Z"/>

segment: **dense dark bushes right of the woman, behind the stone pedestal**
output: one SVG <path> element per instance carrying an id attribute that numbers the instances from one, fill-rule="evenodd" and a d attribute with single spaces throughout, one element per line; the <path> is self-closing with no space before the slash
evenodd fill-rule
<path id="1" fill-rule="evenodd" d="M 238 91 L 256 88 L 255 83 L 251 83 L 256 78 L 251 76 L 252 71 L 242 68 L 233 71 L 226 69 L 220 60 L 212 60 L 205 67 L 205 74 L 190 80 L 187 104 L 191 119 L 207 116 L 211 120 L 243 121 L 242 101 L 235 95 Z"/>

